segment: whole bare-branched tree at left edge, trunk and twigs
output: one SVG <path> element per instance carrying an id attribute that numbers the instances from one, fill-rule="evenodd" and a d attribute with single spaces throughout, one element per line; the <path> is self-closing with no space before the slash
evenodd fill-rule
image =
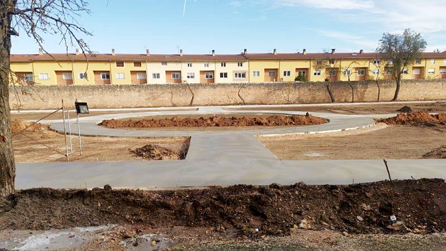
<path id="1" fill-rule="evenodd" d="M 9 67 L 11 36 L 28 36 L 45 52 L 44 34 L 57 35 L 62 44 L 92 53 L 82 36 L 91 35 L 76 18 L 90 13 L 84 0 L 0 0 L 0 196 L 14 191 L 16 170 L 12 151 L 9 85 L 33 85 L 21 81 Z"/>

